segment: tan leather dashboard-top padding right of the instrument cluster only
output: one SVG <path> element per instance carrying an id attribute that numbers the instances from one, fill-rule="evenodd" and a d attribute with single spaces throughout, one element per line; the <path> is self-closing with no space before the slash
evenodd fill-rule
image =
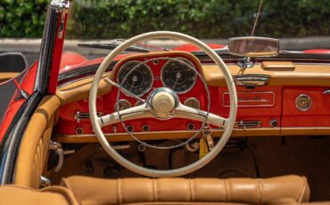
<path id="1" fill-rule="evenodd" d="M 240 74 L 240 68 L 235 64 L 227 64 L 233 76 Z M 323 64 L 294 63 L 294 70 L 263 70 L 260 63 L 246 69 L 244 74 L 268 75 L 268 86 L 330 86 L 330 66 Z M 203 65 L 202 75 L 208 86 L 227 86 L 226 80 L 214 65 Z"/>

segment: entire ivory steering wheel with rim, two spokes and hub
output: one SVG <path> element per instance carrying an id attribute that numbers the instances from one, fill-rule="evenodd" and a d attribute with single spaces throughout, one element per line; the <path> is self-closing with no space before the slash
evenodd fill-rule
<path id="1" fill-rule="evenodd" d="M 214 61 L 219 70 L 222 71 L 226 79 L 229 96 L 230 96 L 230 111 L 227 119 L 222 118 L 213 113 L 206 111 L 201 111 L 198 109 L 187 107 L 182 104 L 177 94 L 169 89 L 168 87 L 160 87 L 155 90 L 147 97 L 147 100 L 142 104 L 136 107 L 128 108 L 123 111 L 115 111 L 111 114 L 105 115 L 103 117 L 98 117 L 96 113 L 96 97 L 97 90 L 100 84 L 100 80 L 103 77 L 104 71 L 108 68 L 111 61 L 114 58 L 125 51 L 129 46 L 136 45 L 137 43 L 145 40 L 155 39 L 155 38 L 171 38 L 186 41 L 189 44 L 197 46 L 204 53 L 208 54 L 212 61 Z M 93 79 L 93 84 L 90 89 L 89 94 L 89 114 L 91 118 L 91 123 L 95 131 L 95 135 L 98 141 L 103 146 L 105 152 L 107 152 L 113 160 L 116 160 L 120 165 L 129 170 L 136 172 L 137 174 L 151 177 L 173 177 L 173 176 L 183 176 L 188 173 L 191 173 L 199 168 L 202 168 L 210 160 L 213 160 L 219 152 L 224 148 L 227 143 L 233 128 L 235 126 L 237 112 L 237 95 L 235 89 L 234 80 L 230 74 L 230 71 L 227 68 L 227 65 L 219 57 L 217 53 L 210 49 L 208 45 L 202 43 L 202 41 L 187 36 L 182 33 L 171 32 L 171 31 L 155 31 L 144 33 L 136 37 L 132 37 L 120 44 L 111 53 L 108 54 L 101 63 L 100 67 L 95 73 Z M 222 136 L 219 139 L 219 142 L 214 146 L 214 148 L 202 159 L 195 161 L 193 164 L 187 165 L 186 167 L 169 169 L 169 170 L 156 170 L 151 168 L 144 168 L 136 165 L 135 163 L 125 159 L 116 152 L 111 144 L 106 140 L 102 127 L 115 124 L 121 120 L 130 120 L 130 119 L 141 119 L 141 118 L 156 118 L 156 119 L 171 119 L 171 118 L 183 118 L 183 119 L 194 119 L 207 124 L 211 124 L 217 127 L 224 129 Z"/>

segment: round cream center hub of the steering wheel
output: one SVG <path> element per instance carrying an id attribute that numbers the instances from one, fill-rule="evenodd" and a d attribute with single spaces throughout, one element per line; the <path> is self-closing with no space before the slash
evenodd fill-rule
<path id="1" fill-rule="evenodd" d="M 157 88 L 150 95 L 153 115 L 160 119 L 169 119 L 179 103 L 177 93 L 168 87 Z"/>

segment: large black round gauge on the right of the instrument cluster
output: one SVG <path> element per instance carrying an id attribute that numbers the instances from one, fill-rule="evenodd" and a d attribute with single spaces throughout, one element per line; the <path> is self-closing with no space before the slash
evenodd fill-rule
<path id="1" fill-rule="evenodd" d="M 182 61 L 182 60 L 181 60 Z M 189 65 L 191 63 L 187 62 Z M 161 69 L 161 82 L 178 94 L 191 90 L 196 81 L 196 73 L 186 63 L 170 60 Z"/>

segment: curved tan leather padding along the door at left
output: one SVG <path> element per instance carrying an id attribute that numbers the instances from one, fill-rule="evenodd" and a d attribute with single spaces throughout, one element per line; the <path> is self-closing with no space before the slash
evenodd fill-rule
<path id="1" fill-rule="evenodd" d="M 54 113 L 59 106 L 57 96 L 47 95 L 33 113 L 21 140 L 14 184 L 38 188 L 54 127 Z"/>

